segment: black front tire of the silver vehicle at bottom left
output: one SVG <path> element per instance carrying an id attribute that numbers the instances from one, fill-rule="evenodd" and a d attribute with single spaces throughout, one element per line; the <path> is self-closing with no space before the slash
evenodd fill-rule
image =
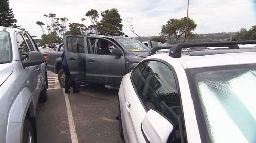
<path id="1" fill-rule="evenodd" d="M 35 142 L 34 130 L 31 122 L 25 119 L 23 124 L 22 143 Z"/>

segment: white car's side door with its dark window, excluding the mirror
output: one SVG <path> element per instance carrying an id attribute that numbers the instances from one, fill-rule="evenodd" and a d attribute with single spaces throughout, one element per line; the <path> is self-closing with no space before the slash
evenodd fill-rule
<path id="1" fill-rule="evenodd" d="M 131 78 L 126 75 L 123 79 L 123 97 L 119 97 L 125 141 L 148 142 L 150 138 L 162 136 L 161 132 L 147 136 L 142 131 L 143 119 L 151 109 L 157 111 L 162 118 L 169 119 L 172 124 L 166 127 L 166 132 L 173 132 L 165 136 L 165 142 L 169 136 L 174 141 L 181 140 L 183 131 L 179 130 L 178 124 L 182 122 L 178 83 L 170 67 L 160 61 L 144 61 L 130 74 Z"/>

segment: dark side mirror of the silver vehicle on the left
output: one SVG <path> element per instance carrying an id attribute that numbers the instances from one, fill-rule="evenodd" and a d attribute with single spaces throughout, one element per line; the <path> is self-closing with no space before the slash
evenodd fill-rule
<path id="1" fill-rule="evenodd" d="M 29 61 L 22 62 L 24 67 L 34 66 L 45 62 L 44 55 L 39 51 L 29 52 Z"/>

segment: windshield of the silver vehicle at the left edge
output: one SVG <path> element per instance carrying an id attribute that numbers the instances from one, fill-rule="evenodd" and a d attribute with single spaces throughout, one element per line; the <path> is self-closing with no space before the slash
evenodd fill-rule
<path id="1" fill-rule="evenodd" d="M 0 63 L 8 63 L 11 58 L 10 40 L 7 32 L 0 32 Z"/>

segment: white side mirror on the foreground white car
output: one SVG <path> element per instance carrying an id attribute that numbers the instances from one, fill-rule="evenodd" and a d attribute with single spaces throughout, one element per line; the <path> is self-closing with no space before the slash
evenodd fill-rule
<path id="1" fill-rule="evenodd" d="M 142 121 L 141 130 L 148 142 L 165 143 L 173 131 L 173 125 L 158 112 L 149 110 Z"/>

